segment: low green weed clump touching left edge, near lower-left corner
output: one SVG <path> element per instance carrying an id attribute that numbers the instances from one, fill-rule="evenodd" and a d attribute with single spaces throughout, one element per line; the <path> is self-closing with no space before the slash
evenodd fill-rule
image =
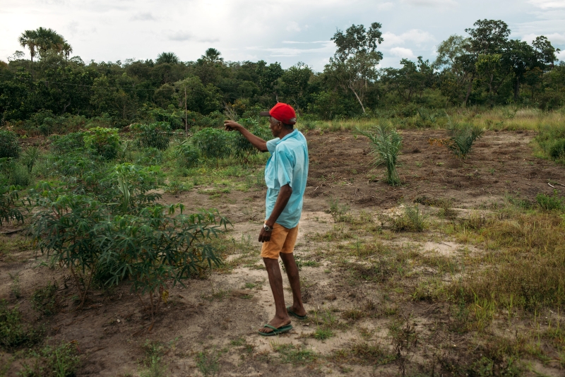
<path id="1" fill-rule="evenodd" d="M 33 345 L 41 340 L 42 330 L 24 326 L 22 313 L 16 306 L 8 309 L 6 300 L 0 301 L 0 347 L 11 350 L 23 345 Z"/>

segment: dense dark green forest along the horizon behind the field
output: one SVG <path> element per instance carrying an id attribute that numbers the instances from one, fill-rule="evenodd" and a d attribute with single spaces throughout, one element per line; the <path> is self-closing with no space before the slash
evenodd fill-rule
<path id="1" fill-rule="evenodd" d="M 225 61 L 217 49 L 197 61 L 174 52 L 157 59 L 85 63 L 54 30 L 26 30 L 8 63 L 0 61 L 0 121 L 29 135 L 99 120 L 116 127 L 167 121 L 172 128 L 219 125 L 275 102 L 302 117 L 412 116 L 426 107 L 565 103 L 565 64 L 546 37 L 511 40 L 501 20 L 477 20 L 437 47 L 430 62 L 402 59 L 383 68 L 381 24 L 337 30 L 336 51 L 322 72 L 304 63 L 284 69 L 266 61 Z M 27 59 L 27 57 L 30 59 Z"/>

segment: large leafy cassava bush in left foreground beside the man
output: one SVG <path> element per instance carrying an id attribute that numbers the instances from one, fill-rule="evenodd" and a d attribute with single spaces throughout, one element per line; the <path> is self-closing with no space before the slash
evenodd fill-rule
<path id="1" fill-rule="evenodd" d="M 160 302 L 155 294 L 165 292 L 167 282 L 220 263 L 210 240 L 229 222 L 215 211 L 184 215 L 182 205 L 155 204 L 160 196 L 149 191 L 157 179 L 156 169 L 120 164 L 100 181 L 95 198 L 48 184 L 35 189 L 35 241 L 71 270 L 81 305 L 93 279 L 112 285 L 129 278 L 134 292 L 149 294 L 153 313 Z"/>

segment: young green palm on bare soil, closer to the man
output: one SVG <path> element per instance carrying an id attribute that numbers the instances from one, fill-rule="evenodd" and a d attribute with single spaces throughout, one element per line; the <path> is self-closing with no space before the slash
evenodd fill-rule
<path id="1" fill-rule="evenodd" d="M 381 122 L 371 131 L 361 131 L 357 128 L 357 133 L 366 136 L 371 141 L 372 153 L 375 157 L 374 164 L 379 166 L 386 165 L 386 181 L 392 186 L 400 184 L 400 178 L 396 172 L 398 153 L 402 148 L 402 136 L 393 128 L 389 122 Z"/>

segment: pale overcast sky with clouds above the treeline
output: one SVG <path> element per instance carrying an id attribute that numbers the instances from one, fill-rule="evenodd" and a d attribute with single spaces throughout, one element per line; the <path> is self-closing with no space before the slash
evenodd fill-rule
<path id="1" fill-rule="evenodd" d="M 565 50 L 565 0 L 0 0 L 0 59 L 24 50 L 24 30 L 42 26 L 63 35 L 85 62 L 169 51 L 190 61 L 215 47 L 227 61 L 284 68 L 303 61 L 321 71 L 335 51 L 336 28 L 379 22 L 381 66 L 399 66 L 402 58 L 433 60 L 439 42 L 483 18 L 504 20 L 512 38 L 545 35 Z"/>

